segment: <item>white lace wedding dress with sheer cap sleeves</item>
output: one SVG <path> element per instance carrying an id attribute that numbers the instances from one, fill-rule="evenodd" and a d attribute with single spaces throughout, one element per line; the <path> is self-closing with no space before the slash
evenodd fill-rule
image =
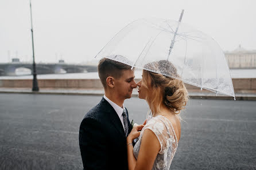
<path id="1" fill-rule="evenodd" d="M 173 156 L 178 147 L 177 137 L 172 123 L 168 120 L 168 118 L 161 115 L 152 117 L 150 120 L 148 119 L 147 124 L 143 127 L 141 135 L 139 135 L 139 139 L 133 148 L 133 154 L 136 159 L 138 158 L 139 148 L 141 146 L 141 140 L 145 129 L 150 129 L 153 131 L 161 145 L 161 149 L 157 154 L 152 169 L 169 170 Z"/>

